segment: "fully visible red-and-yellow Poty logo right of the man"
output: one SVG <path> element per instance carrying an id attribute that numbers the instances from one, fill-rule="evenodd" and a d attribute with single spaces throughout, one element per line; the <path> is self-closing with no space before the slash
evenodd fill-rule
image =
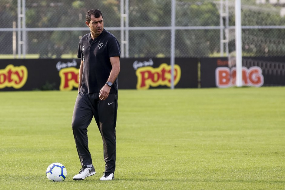
<path id="1" fill-rule="evenodd" d="M 171 86 L 171 65 L 162 63 L 158 68 L 141 67 L 136 71 L 138 77 L 137 89 L 148 89 L 150 86 Z M 174 65 L 174 85 L 180 81 L 181 68 Z"/>

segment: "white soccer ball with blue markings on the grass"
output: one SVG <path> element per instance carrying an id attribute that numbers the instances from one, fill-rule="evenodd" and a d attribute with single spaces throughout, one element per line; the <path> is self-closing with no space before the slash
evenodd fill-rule
<path id="1" fill-rule="evenodd" d="M 61 182 L 65 180 L 67 171 L 64 165 L 60 163 L 53 163 L 47 168 L 47 178 L 52 182 Z"/>

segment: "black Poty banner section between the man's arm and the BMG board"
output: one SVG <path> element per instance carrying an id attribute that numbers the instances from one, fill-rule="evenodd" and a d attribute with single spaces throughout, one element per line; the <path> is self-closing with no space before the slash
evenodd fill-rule
<path id="1" fill-rule="evenodd" d="M 197 70 L 197 58 L 176 58 L 174 65 L 175 88 L 197 88 Z M 122 59 L 118 80 L 121 89 L 170 88 L 170 58 Z"/>

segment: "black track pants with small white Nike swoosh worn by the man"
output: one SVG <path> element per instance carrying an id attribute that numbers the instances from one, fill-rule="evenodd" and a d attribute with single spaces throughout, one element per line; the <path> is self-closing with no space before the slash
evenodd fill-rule
<path id="1" fill-rule="evenodd" d="M 103 140 L 105 172 L 114 173 L 117 110 L 117 94 L 109 94 L 106 100 L 101 101 L 99 100 L 99 93 L 78 93 L 71 126 L 81 165 L 92 164 L 88 149 L 87 127 L 94 116 Z"/>

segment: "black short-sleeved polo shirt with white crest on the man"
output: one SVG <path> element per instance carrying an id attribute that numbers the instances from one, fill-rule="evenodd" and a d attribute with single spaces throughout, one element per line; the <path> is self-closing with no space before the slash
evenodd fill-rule
<path id="1" fill-rule="evenodd" d="M 77 57 L 84 62 L 80 91 L 99 93 L 112 69 L 110 57 L 120 54 L 118 40 L 105 29 L 94 40 L 91 38 L 91 33 L 84 35 L 79 42 L 77 54 Z M 118 94 L 118 78 L 114 81 L 110 93 Z"/>

